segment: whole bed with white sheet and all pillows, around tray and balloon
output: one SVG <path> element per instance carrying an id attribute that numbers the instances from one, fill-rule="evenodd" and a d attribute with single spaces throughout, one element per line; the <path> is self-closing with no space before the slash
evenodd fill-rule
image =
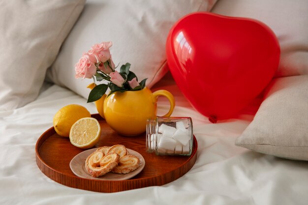
<path id="1" fill-rule="evenodd" d="M 176 2 L 151 0 L 151 7 L 124 0 L 2 3 L 5 5 L 0 8 L 0 19 L 4 14 L 5 18 L 8 14 L 15 17 L 11 18 L 11 27 L 7 22 L 0 23 L 1 205 L 307 205 L 308 30 L 303 26 L 308 19 L 307 1 Z M 20 6 L 16 7 L 16 3 Z M 276 9 L 281 13 L 273 14 Z M 121 11 L 126 11 L 126 18 L 119 15 Z M 167 11 L 170 15 L 166 15 Z M 238 117 L 211 123 L 189 104 L 168 71 L 163 52 L 168 29 L 194 11 L 259 18 L 278 37 L 282 54 L 277 74 L 265 92 Z M 284 18 L 283 27 L 278 20 L 286 12 L 290 16 Z M 103 14 L 109 20 L 102 21 Z M 26 19 L 27 15 L 30 17 Z M 35 21 L 29 28 L 33 16 L 38 15 L 41 22 Z M 18 24 L 20 21 L 24 26 Z M 112 28 L 119 21 L 121 27 Z M 95 27 L 97 22 L 111 29 Z M 49 26 L 44 27 L 46 24 Z M 29 29 L 35 34 L 28 33 Z M 12 34 L 16 30 L 22 33 L 17 35 L 20 40 Z M 130 35 L 123 35 L 123 31 Z M 150 43 L 149 38 L 153 39 Z M 86 99 L 86 86 L 92 81 L 75 79 L 73 66 L 82 51 L 104 39 L 114 42 L 115 62 L 129 61 L 136 65 L 132 69 L 140 78 L 149 78 L 147 86 L 152 91 L 166 89 L 174 95 L 172 116 L 192 118 L 198 157 L 177 180 L 161 186 L 99 193 L 64 186 L 38 168 L 35 144 L 53 126 L 53 117 L 60 108 L 79 104 L 91 114 L 97 113 L 95 105 Z M 16 47 L 8 49 L 12 46 Z M 21 56 L 22 51 L 17 50 L 20 47 L 26 54 L 12 71 L 16 59 L 7 59 L 12 52 Z M 168 110 L 169 102 L 159 98 L 158 115 Z"/>

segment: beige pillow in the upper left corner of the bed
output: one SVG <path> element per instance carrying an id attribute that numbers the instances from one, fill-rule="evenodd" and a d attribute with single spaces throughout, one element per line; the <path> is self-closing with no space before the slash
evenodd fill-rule
<path id="1" fill-rule="evenodd" d="M 0 3 L 0 111 L 34 100 L 85 0 Z"/>

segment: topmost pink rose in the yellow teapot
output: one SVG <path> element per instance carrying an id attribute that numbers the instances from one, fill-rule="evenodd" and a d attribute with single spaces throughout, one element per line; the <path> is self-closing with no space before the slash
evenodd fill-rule
<path id="1" fill-rule="evenodd" d="M 92 45 L 88 51 L 89 59 L 95 62 L 106 62 L 111 58 L 109 48 L 112 46 L 112 42 L 102 42 Z"/>

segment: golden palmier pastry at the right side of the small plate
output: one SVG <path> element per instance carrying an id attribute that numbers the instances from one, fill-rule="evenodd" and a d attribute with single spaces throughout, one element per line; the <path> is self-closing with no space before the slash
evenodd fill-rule
<path id="1" fill-rule="evenodd" d="M 127 154 L 120 158 L 118 166 L 116 166 L 111 172 L 118 174 L 127 174 L 139 167 L 140 160 L 134 155 Z"/>

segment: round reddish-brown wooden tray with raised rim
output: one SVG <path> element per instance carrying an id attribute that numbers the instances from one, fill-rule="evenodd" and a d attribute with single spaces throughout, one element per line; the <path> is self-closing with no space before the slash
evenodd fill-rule
<path id="1" fill-rule="evenodd" d="M 49 178 L 63 185 L 96 192 L 119 192 L 169 183 L 188 172 L 197 159 L 197 140 L 193 139 L 190 156 L 157 156 L 146 152 L 145 134 L 125 137 L 113 131 L 98 114 L 92 115 L 101 125 L 100 141 L 96 147 L 122 144 L 139 152 L 146 165 L 141 173 L 127 180 L 95 180 L 75 176 L 69 167 L 71 159 L 85 149 L 73 146 L 69 138 L 59 136 L 51 127 L 36 142 L 35 157 L 38 168 Z"/>

